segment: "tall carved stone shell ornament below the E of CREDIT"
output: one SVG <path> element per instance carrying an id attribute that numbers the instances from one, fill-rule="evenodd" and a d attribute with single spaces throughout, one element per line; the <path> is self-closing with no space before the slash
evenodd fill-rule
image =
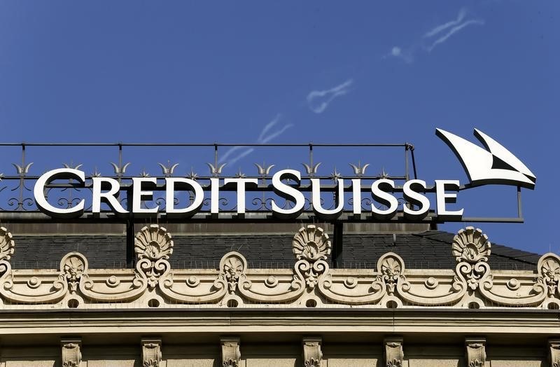
<path id="1" fill-rule="evenodd" d="M 153 289 L 169 269 L 167 259 L 173 253 L 171 235 L 157 224 L 146 226 L 134 238 L 134 252 L 139 260 L 137 267 L 146 273 L 148 286 Z"/>

